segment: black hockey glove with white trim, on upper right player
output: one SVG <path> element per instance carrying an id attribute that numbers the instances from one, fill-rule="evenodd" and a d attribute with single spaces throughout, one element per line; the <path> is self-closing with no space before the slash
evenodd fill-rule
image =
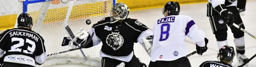
<path id="1" fill-rule="evenodd" d="M 225 4 L 220 4 L 220 5 L 216 6 L 216 7 L 214 7 L 214 9 L 215 9 L 218 13 L 220 13 L 221 16 L 224 16 L 224 17 L 226 17 L 225 15 L 226 15 L 226 13 L 228 13 Z"/>

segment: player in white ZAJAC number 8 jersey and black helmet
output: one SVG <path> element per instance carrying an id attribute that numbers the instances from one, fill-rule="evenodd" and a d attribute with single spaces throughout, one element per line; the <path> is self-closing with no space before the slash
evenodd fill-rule
<path id="1" fill-rule="evenodd" d="M 205 33 L 197 29 L 191 17 L 179 15 L 178 2 L 168 2 L 164 6 L 164 18 L 158 19 L 153 29 L 153 48 L 149 67 L 191 67 L 185 37 L 196 43 L 197 54 L 207 50 Z"/>

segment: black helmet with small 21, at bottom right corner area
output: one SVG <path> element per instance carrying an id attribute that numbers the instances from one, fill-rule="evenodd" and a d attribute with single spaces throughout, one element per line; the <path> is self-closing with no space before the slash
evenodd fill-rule
<path id="1" fill-rule="evenodd" d="M 235 50 L 232 46 L 222 46 L 217 57 L 220 57 L 220 60 L 231 62 L 235 57 Z"/>

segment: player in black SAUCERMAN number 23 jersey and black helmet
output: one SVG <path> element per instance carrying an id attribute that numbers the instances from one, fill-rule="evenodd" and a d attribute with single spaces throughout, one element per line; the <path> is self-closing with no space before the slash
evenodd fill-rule
<path id="1" fill-rule="evenodd" d="M 17 23 L 18 28 L 0 34 L 0 57 L 5 55 L 1 67 L 36 67 L 36 64 L 43 64 L 46 60 L 44 40 L 31 30 L 32 17 L 21 13 Z"/>

